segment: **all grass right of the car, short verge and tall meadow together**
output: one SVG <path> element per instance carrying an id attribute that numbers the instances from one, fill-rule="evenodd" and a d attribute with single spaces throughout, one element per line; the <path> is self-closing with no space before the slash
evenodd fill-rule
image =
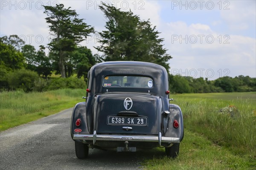
<path id="1" fill-rule="evenodd" d="M 183 111 L 180 154 L 172 160 L 164 155 L 164 148 L 148 151 L 144 169 L 256 169 L 256 92 L 176 94 L 170 98 Z M 229 106 L 236 107 L 234 115 L 220 112 Z"/>

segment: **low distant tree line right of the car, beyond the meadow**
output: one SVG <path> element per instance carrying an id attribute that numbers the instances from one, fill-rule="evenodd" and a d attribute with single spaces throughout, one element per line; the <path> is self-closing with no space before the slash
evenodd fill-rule
<path id="1" fill-rule="evenodd" d="M 218 93 L 256 91 L 256 78 L 249 76 L 220 77 L 215 80 L 207 78 L 181 77 L 169 75 L 172 93 Z"/>

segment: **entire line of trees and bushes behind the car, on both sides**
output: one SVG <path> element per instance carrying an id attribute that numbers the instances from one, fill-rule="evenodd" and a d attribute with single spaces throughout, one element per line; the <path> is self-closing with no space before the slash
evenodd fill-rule
<path id="1" fill-rule="evenodd" d="M 131 11 L 102 4 L 99 9 L 107 19 L 106 29 L 97 32 L 93 26 L 79 19 L 70 7 L 64 8 L 63 4 L 59 4 L 44 8 L 49 33 L 54 37 L 46 47 L 41 45 L 36 50 L 17 35 L 0 37 L 0 89 L 43 91 L 82 88 L 84 82 L 80 78 L 86 81 L 90 67 L 103 61 L 154 62 L 167 70 L 170 68 L 168 61 L 172 57 L 163 48 L 164 39 L 159 38 L 160 32 L 149 20 L 141 20 Z M 94 47 L 102 52 L 101 56 L 93 55 L 89 48 L 79 45 L 92 34 L 99 34 L 102 38 L 99 40 L 101 45 Z M 52 74 L 66 79 L 49 79 Z M 256 91 L 255 78 L 243 76 L 208 81 L 170 74 L 169 80 L 173 93 Z"/>

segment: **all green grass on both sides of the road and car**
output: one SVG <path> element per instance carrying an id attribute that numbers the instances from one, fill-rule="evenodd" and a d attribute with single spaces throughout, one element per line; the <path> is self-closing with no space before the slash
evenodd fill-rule
<path id="1" fill-rule="evenodd" d="M 0 130 L 58 113 L 84 101 L 83 89 L 0 93 Z M 164 148 L 137 152 L 146 170 L 255 170 L 256 92 L 176 94 L 183 111 L 184 139 L 173 160 Z M 222 108 L 236 108 L 232 112 Z"/>

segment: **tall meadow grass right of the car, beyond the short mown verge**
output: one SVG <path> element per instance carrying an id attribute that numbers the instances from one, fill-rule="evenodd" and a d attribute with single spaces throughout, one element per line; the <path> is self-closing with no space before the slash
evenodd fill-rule
<path id="1" fill-rule="evenodd" d="M 171 97 L 183 111 L 184 127 L 230 148 L 235 154 L 256 156 L 256 92 Z M 230 105 L 237 108 L 236 114 L 220 112 Z"/>

